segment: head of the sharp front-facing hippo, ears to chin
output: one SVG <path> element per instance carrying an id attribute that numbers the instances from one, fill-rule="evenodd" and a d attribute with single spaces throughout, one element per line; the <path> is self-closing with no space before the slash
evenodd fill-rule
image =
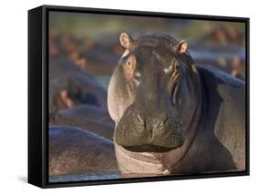
<path id="1" fill-rule="evenodd" d="M 108 112 L 116 121 L 114 141 L 136 152 L 179 148 L 194 104 L 187 42 L 169 35 L 133 40 L 126 33 L 119 39 L 125 52 L 108 85 Z"/>

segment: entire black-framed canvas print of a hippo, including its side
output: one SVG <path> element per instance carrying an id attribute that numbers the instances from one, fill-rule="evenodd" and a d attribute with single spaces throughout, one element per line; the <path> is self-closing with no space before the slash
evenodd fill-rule
<path id="1" fill-rule="evenodd" d="M 249 18 L 28 11 L 28 182 L 249 175 Z"/>

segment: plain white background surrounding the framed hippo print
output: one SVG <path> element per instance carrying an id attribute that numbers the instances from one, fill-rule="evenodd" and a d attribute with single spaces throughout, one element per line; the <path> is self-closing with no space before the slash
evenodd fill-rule
<path id="1" fill-rule="evenodd" d="M 255 190 L 256 126 L 255 34 L 253 0 L 73 0 L 1 1 L 0 9 L 0 192 L 1 193 L 243 193 Z M 38 5 L 73 5 L 182 14 L 251 18 L 251 176 L 148 183 L 38 189 L 26 183 L 27 163 L 27 10 Z M 255 192 L 255 191 L 254 191 Z"/>

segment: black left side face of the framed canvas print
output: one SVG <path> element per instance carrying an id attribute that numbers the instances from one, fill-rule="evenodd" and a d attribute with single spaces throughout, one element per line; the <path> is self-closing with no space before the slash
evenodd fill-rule
<path id="1" fill-rule="evenodd" d="M 43 187 L 42 6 L 28 11 L 28 167 L 27 181 Z"/>

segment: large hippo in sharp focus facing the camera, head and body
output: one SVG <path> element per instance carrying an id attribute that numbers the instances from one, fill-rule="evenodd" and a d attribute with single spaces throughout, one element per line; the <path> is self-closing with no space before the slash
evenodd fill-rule
<path id="1" fill-rule="evenodd" d="M 245 170 L 245 82 L 197 66 L 188 42 L 168 34 L 119 42 L 108 112 L 122 174 Z"/>

